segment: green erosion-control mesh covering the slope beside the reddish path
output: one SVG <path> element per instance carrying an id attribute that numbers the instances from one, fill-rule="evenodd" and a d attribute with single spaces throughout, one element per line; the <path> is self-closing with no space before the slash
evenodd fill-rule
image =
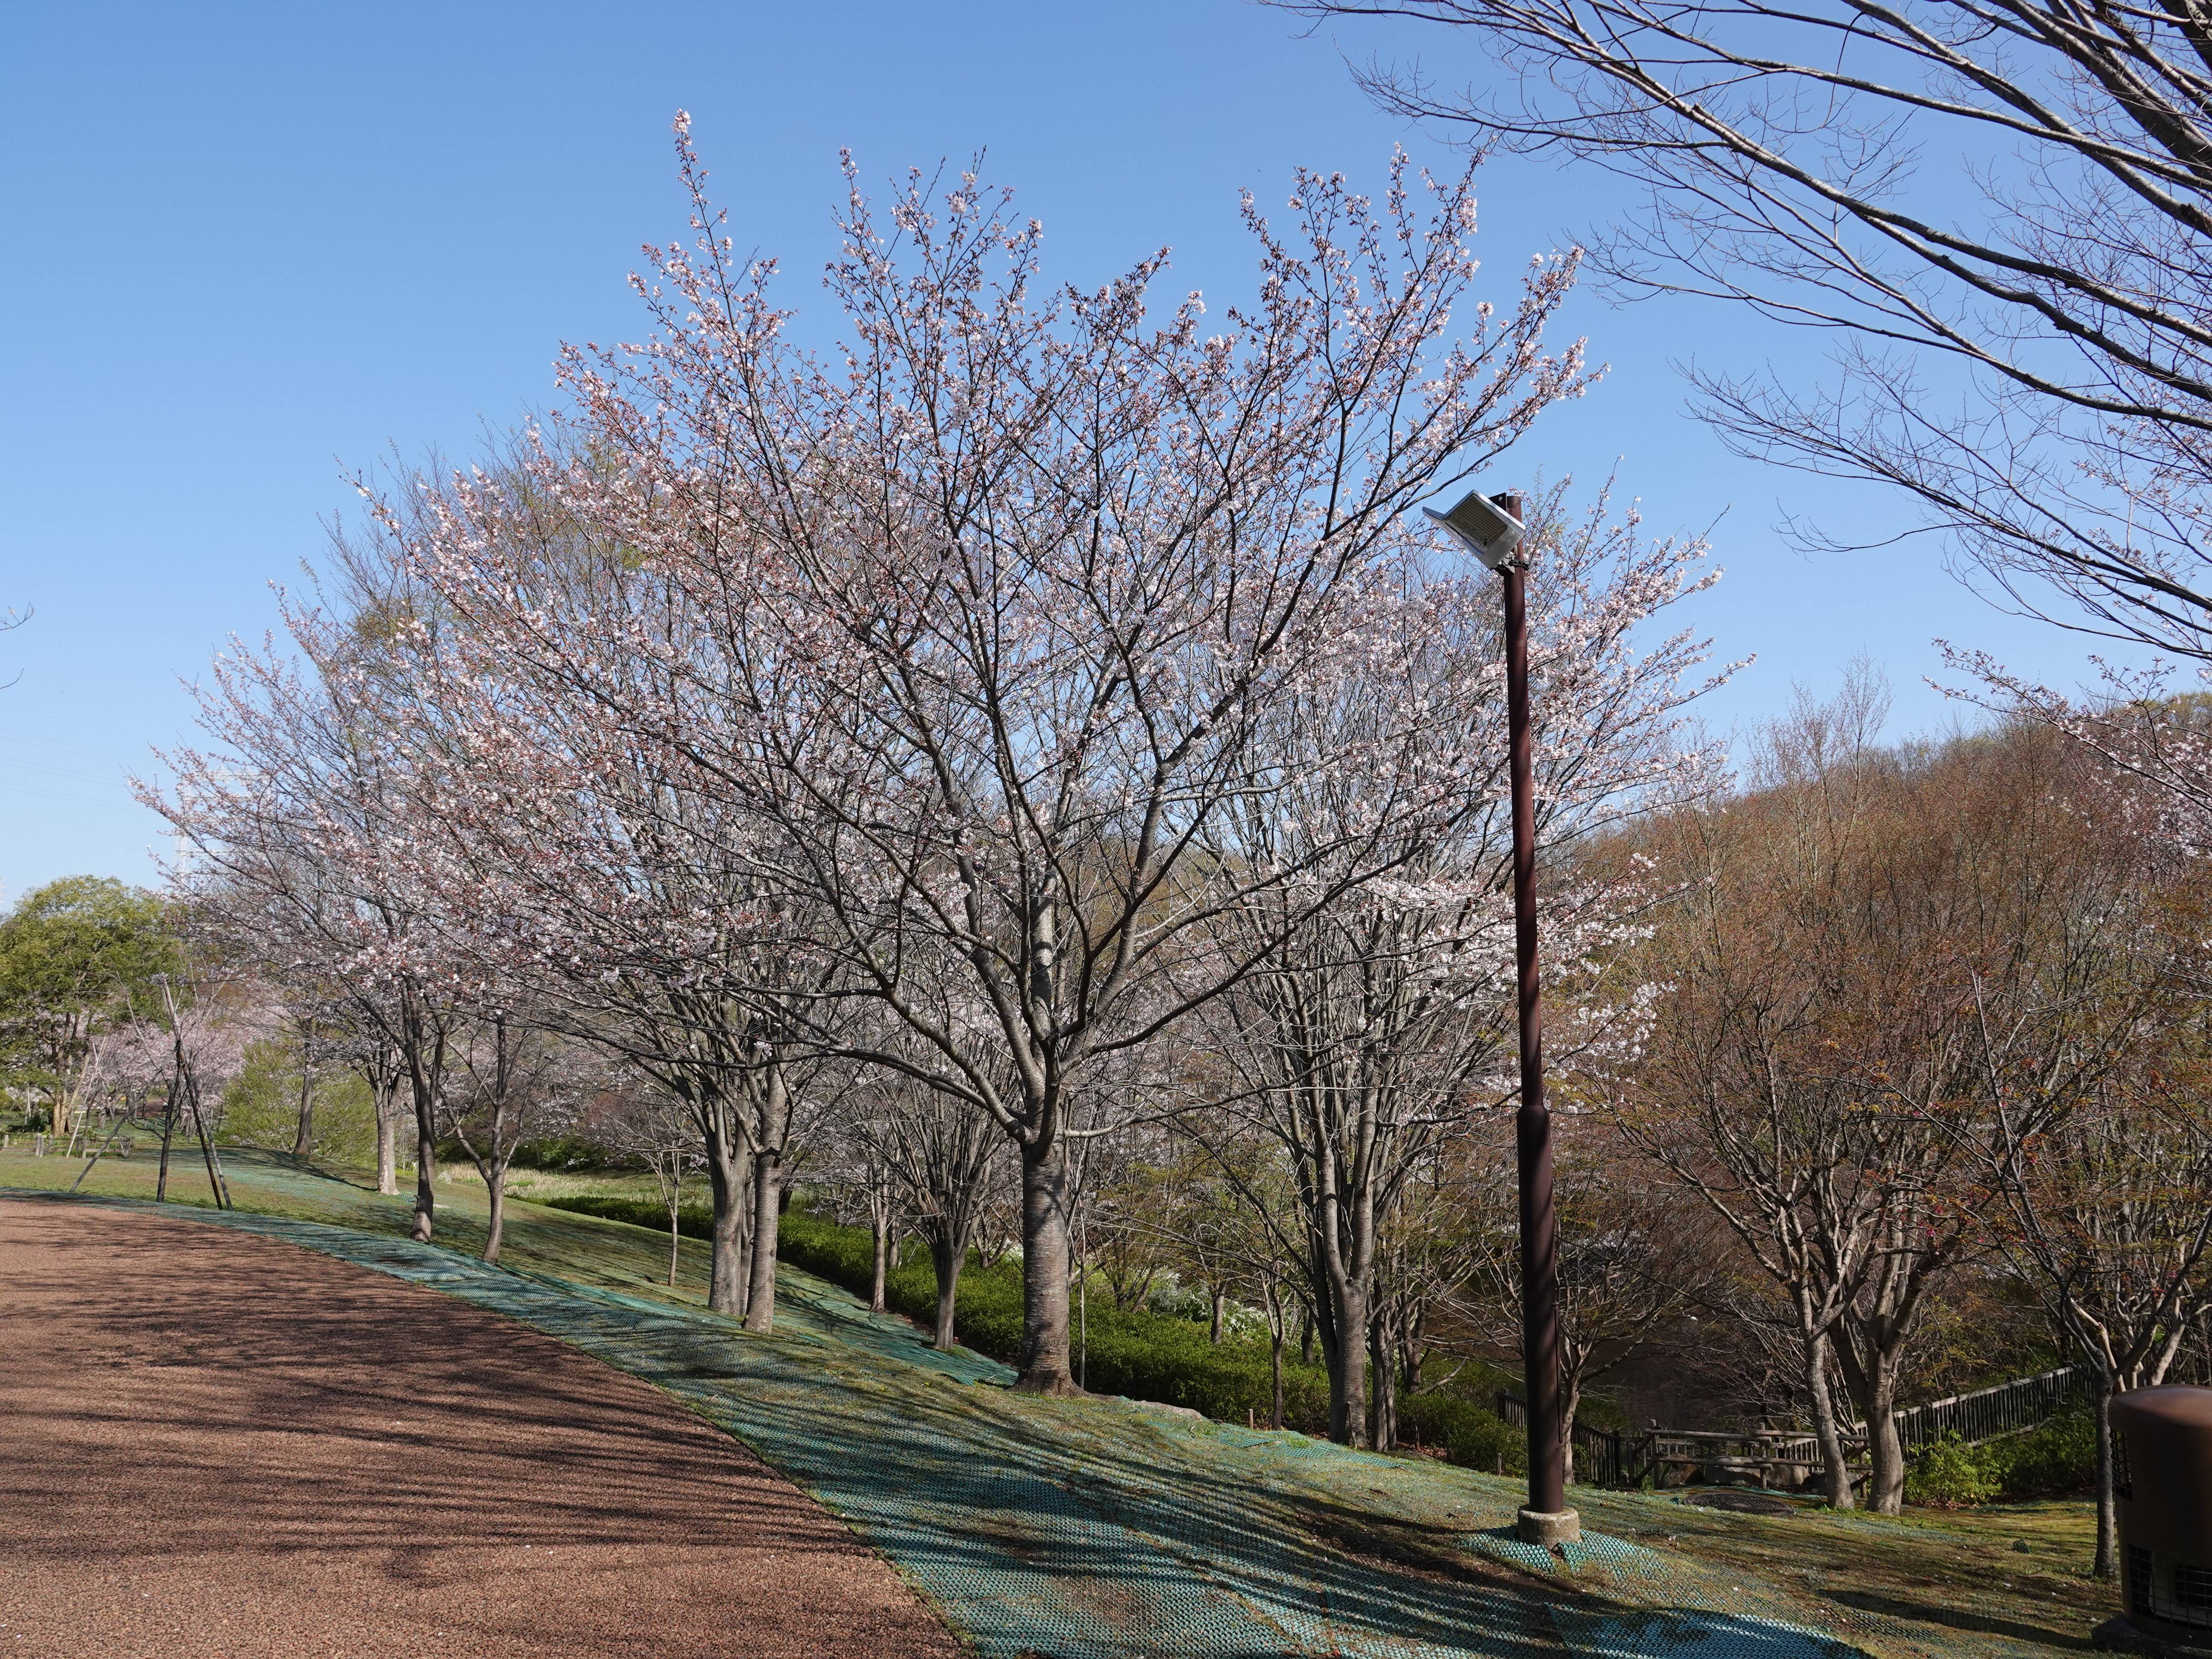
<path id="1" fill-rule="evenodd" d="M 668 1389 L 852 1524 L 982 1659 L 1863 1652 L 1823 1630 L 1832 1601 L 1741 1571 L 1610 1535 L 1564 1564 L 1533 1551 L 1511 1535 L 1509 1480 L 993 1387 L 1006 1367 L 936 1354 L 807 1274 L 779 1274 L 779 1332 L 745 1336 L 712 1314 L 407 1239 L 181 1214 L 431 1285 Z M 1666 1500 L 1577 1502 L 1586 1520 L 1650 1533 Z M 1867 1635 L 1876 1624 L 1854 1619 Z"/>

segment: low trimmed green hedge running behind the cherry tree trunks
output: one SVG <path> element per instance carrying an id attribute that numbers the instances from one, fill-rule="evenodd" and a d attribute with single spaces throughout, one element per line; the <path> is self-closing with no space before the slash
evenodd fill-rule
<path id="1" fill-rule="evenodd" d="M 666 1206 L 650 1199 L 562 1197 L 546 1203 L 668 1230 Z M 706 1206 L 684 1206 L 677 1230 L 706 1239 L 712 1232 L 712 1212 Z M 856 1296 L 869 1292 L 874 1239 L 865 1228 L 843 1228 L 794 1203 L 776 1228 L 776 1252 L 790 1265 L 843 1285 Z M 938 1276 L 927 1252 L 916 1252 L 905 1265 L 885 1274 L 883 1301 L 922 1329 L 936 1323 Z M 1091 1303 L 1084 1323 L 1088 1329 L 1079 1367 L 1082 1383 L 1093 1394 L 1181 1405 L 1217 1422 L 1234 1422 L 1248 1413 L 1254 1422 L 1270 1418 L 1265 1340 L 1225 1336 L 1212 1343 L 1206 1325 L 1197 1321 L 1099 1301 Z M 1071 1325 L 1075 1325 L 1073 1310 Z M 975 1252 L 969 1252 L 969 1265 L 960 1272 L 953 1327 L 962 1345 L 1011 1365 L 1022 1347 L 1022 1263 L 1002 1259 L 984 1267 Z M 1442 1447 L 1451 1462 L 1471 1469 L 1502 1467 L 1506 1473 L 1526 1469 L 1522 1431 L 1471 1398 L 1418 1394 L 1398 1402 L 1398 1420 L 1400 1438 Z M 1321 1365 L 1298 1365 L 1294 1354 L 1285 1354 L 1283 1363 L 1283 1422 L 1314 1436 L 1327 1433 L 1329 1427 L 1329 1374 Z"/>

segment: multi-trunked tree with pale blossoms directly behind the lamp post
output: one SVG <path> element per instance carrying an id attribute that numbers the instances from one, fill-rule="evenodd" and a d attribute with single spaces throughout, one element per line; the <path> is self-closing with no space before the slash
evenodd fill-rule
<path id="1" fill-rule="evenodd" d="M 1694 692 L 1683 672 L 1701 648 L 1674 635 L 1628 653 L 1626 637 L 1701 586 L 1688 571 L 1703 549 L 1644 544 L 1632 515 L 1608 522 L 1604 498 L 1568 520 L 1564 489 L 1526 511 L 1540 834 L 1559 849 L 1701 774 L 1703 757 L 1674 743 Z M 1287 874 L 1254 885 L 1214 929 L 1228 960 L 1254 967 L 1199 1015 L 1225 1071 L 1199 1099 L 1210 1115 L 1248 1117 L 1292 1159 L 1329 1433 L 1352 1444 L 1369 1433 L 1369 1374 L 1389 1376 L 1369 1347 L 1385 1340 L 1376 1272 L 1391 1210 L 1513 1088 L 1498 661 L 1489 577 L 1433 577 L 1391 653 L 1316 684 L 1261 728 L 1256 748 L 1283 781 L 1223 812 L 1217 830 L 1223 863 Z M 1405 710 L 1420 719 L 1402 723 Z M 1354 863 L 1387 874 L 1352 880 Z M 1619 925 L 1632 887 L 1548 883 L 1551 958 L 1571 971 Z M 1332 896 L 1316 905 L 1321 889 Z M 1194 1119 L 1186 1133 L 1223 1137 Z"/>

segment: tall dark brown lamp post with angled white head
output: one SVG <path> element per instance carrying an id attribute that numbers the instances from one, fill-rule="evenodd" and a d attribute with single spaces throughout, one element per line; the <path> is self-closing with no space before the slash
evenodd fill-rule
<path id="1" fill-rule="evenodd" d="M 1429 509 L 1422 509 L 1429 511 Z M 1522 1104 L 1513 1119 L 1520 1152 L 1522 1369 L 1528 1391 L 1528 1544 L 1571 1544 L 1582 1517 L 1566 1506 L 1566 1447 L 1559 1422 L 1559 1228 L 1551 1210 L 1551 1113 L 1544 1108 L 1544 1011 L 1535 975 L 1535 743 L 1528 734 L 1528 568 L 1520 495 L 1469 493 L 1449 513 L 1429 511 L 1504 577 L 1506 732 L 1513 774 L 1513 942 L 1520 969 Z"/>

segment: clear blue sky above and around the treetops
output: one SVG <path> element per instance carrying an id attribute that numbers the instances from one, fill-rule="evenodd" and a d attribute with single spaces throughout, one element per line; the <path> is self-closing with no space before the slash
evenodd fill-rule
<path id="1" fill-rule="evenodd" d="M 1175 248 L 1177 288 L 1241 288 L 1237 190 L 1279 204 L 1296 164 L 1380 181 L 1394 142 L 1345 55 L 1462 42 L 1402 24 L 1303 35 L 1245 0 L 719 4 L 38 4 L 0 51 L 0 898 L 60 874 L 150 880 L 159 823 L 122 785 L 190 726 L 181 681 L 272 622 L 270 580 L 319 553 L 345 476 L 465 451 L 553 396 L 562 338 L 637 332 L 637 246 L 684 234 L 681 106 L 741 243 L 818 303 L 836 153 L 867 177 L 989 148 L 1044 219 L 1055 274 L 1097 281 Z M 1509 301 L 1531 252 L 1604 201 L 1500 161 L 1482 252 Z M 1951 710 L 1931 637 L 2073 684 L 2084 646 L 2002 617 L 1933 549 L 1805 560 L 1774 535 L 1893 511 L 1725 456 L 1670 361 L 1816 374 L 1741 312 L 1575 303 L 1608 383 L 1520 451 L 1595 482 L 1619 458 L 1655 531 L 1719 520 L 1728 580 L 1699 619 L 1759 664 L 1721 728 L 1829 690 L 1867 653 L 1896 732 Z M 1506 480 L 1500 480 L 1506 482 Z M 1723 518 L 1725 513 L 1725 518 Z"/>

